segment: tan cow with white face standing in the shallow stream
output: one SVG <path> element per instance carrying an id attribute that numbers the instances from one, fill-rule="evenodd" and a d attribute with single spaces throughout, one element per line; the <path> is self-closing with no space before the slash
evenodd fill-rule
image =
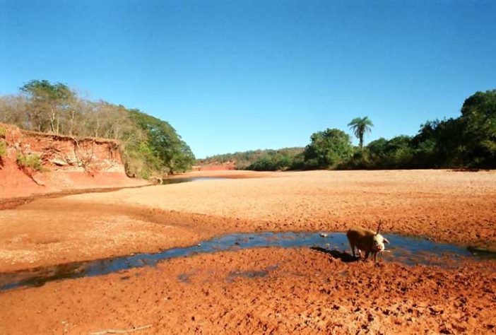
<path id="1" fill-rule="evenodd" d="M 365 251 L 365 259 L 369 257 L 372 252 L 374 255 L 374 261 L 377 261 L 377 252 L 383 252 L 384 243 L 389 241 L 379 234 L 381 229 L 381 221 L 379 221 L 379 226 L 377 227 L 377 233 L 370 229 L 365 228 L 351 228 L 346 233 L 348 241 L 350 241 L 351 252 L 353 252 L 353 257 L 355 257 L 355 247 L 358 249 L 358 257 L 362 256 L 360 250 Z"/>

